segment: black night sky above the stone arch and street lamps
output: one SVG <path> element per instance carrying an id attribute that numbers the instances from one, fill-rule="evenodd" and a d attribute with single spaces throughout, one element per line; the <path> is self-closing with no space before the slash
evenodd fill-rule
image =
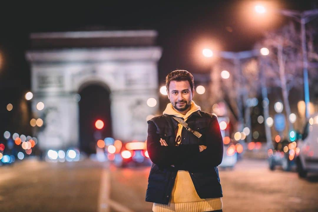
<path id="1" fill-rule="evenodd" d="M 292 10 L 310 10 L 318 6 L 315 1 L 279 1 L 276 4 L 279 8 Z M 30 67 L 25 60 L 25 51 L 30 49 L 31 32 L 154 29 L 158 31 L 157 45 L 163 49 L 159 61 L 161 85 L 167 73 L 175 69 L 209 72 L 209 63 L 200 59 L 204 46 L 222 51 L 249 50 L 265 31 L 274 30 L 290 20 L 276 16 L 269 23 L 267 18 L 248 17 L 249 5 L 250 1 L 2 3 L 1 129 L 8 120 L 4 115 L 8 102 L 19 103 L 30 90 Z"/>

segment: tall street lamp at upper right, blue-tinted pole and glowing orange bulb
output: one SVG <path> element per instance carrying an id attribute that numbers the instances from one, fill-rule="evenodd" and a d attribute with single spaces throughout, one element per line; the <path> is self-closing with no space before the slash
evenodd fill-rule
<path id="1" fill-rule="evenodd" d="M 263 5 L 256 5 L 255 11 L 259 14 L 265 13 L 266 8 Z M 305 96 L 305 114 L 309 118 L 309 84 L 308 84 L 308 60 L 307 60 L 307 47 L 306 47 L 306 27 L 305 25 L 318 16 L 318 9 L 306 10 L 303 12 L 295 10 L 275 10 L 276 13 L 292 17 L 301 24 L 301 48 L 302 48 L 302 63 L 303 63 L 303 76 L 304 76 L 304 96 Z"/>

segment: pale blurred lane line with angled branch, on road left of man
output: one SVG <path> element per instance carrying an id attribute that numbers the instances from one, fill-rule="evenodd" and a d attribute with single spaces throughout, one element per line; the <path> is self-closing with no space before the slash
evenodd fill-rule
<path id="1" fill-rule="evenodd" d="M 119 212 L 134 212 L 122 204 L 110 199 L 110 172 L 104 168 L 100 179 L 100 195 L 98 201 L 98 212 L 110 212 L 110 207 Z"/>

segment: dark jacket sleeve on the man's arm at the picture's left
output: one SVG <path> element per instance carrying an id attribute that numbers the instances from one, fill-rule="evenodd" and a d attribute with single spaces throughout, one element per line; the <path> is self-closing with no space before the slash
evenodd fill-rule
<path id="1" fill-rule="evenodd" d="M 160 135 L 156 131 L 156 125 L 152 121 L 148 121 L 147 151 L 150 160 L 158 166 L 174 165 L 186 160 L 186 158 L 199 154 L 199 146 L 197 144 L 161 146 Z"/>

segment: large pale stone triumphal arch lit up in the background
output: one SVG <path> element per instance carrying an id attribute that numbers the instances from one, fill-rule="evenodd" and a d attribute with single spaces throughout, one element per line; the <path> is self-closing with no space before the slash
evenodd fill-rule
<path id="1" fill-rule="evenodd" d="M 89 84 L 110 92 L 114 139 L 147 138 L 148 115 L 158 104 L 156 31 L 90 31 L 31 34 L 26 52 L 31 66 L 32 112 L 41 150 L 79 146 L 79 91 Z M 39 111 L 38 102 L 45 107 Z M 129 104 L 127 104 L 129 103 Z"/>

